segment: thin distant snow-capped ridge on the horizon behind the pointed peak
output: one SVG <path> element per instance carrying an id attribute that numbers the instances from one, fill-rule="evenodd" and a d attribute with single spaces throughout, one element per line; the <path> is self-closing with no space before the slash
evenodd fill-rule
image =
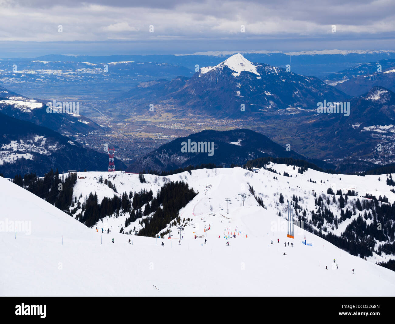
<path id="1" fill-rule="evenodd" d="M 347 55 L 347 54 L 373 54 L 373 53 L 395 53 L 395 50 L 392 49 L 384 49 L 384 50 L 375 50 L 375 49 L 352 49 L 352 50 L 343 50 L 343 49 L 324 49 L 322 51 L 300 51 L 300 52 L 281 52 L 281 51 L 207 51 L 207 52 L 195 52 L 193 54 L 175 54 L 175 56 L 186 56 L 186 55 L 207 55 L 207 56 L 228 56 L 237 53 L 243 54 L 285 54 L 285 55 Z"/>

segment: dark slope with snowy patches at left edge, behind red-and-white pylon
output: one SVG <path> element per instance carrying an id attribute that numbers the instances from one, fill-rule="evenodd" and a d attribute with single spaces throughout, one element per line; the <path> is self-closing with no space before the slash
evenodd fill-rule
<path id="1" fill-rule="evenodd" d="M 42 176 L 49 170 L 108 169 L 109 157 L 81 146 L 68 136 L 0 113 L 0 173 L 13 178 L 16 174 L 36 173 Z M 117 169 L 126 166 L 115 159 Z"/>

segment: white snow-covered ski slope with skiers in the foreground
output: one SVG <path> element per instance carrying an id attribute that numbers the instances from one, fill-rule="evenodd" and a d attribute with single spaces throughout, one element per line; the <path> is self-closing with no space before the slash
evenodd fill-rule
<path id="1" fill-rule="evenodd" d="M 308 192 L 314 189 L 326 193 L 328 182 L 337 189 L 356 187 L 360 193 L 367 191 L 376 197 L 386 195 L 393 202 L 395 194 L 387 189 L 385 175 L 378 181 L 378 176 L 339 176 L 313 170 L 301 175 L 292 166 L 272 167 L 277 172 L 287 171 L 293 177 L 275 175 L 263 169 L 258 173 L 241 168 L 202 169 L 192 171 L 192 175 L 183 172 L 166 178 L 145 175 L 147 183 L 141 184 L 137 174 L 78 174 L 86 178 L 77 179 L 74 188 L 77 198 L 80 193 L 85 196 L 96 191 L 99 201 L 114 194 L 108 186 L 98 183 L 100 174 L 105 178 L 112 177 L 118 193 L 144 187 L 152 188 L 156 195 L 165 181 L 188 182 L 199 194 L 180 210 L 181 220 L 185 218 L 187 223 L 181 233 L 184 239 L 180 245 L 176 227 L 171 227 L 171 239 L 167 235 L 165 239 L 155 239 L 119 234 L 128 215 L 105 218 L 98 223 L 97 233 L 96 229 L 85 227 L 49 203 L 0 178 L 3 207 L 0 217 L 0 226 L 3 224 L 0 231 L 0 295 L 394 296 L 394 271 L 371 262 L 374 260 L 351 256 L 297 227 L 295 239 L 288 239 L 284 218 L 276 215 L 278 210 L 284 215 L 285 208 L 285 204 L 278 205 L 277 192 L 282 192 L 285 201 L 291 199 L 293 193 L 302 198 L 305 195 L 307 198 L 303 203 L 310 204 L 313 209 L 314 200 L 310 200 Z M 273 179 L 273 175 L 278 180 Z M 317 184 L 307 182 L 310 178 Z M 325 184 L 321 185 L 320 180 L 324 178 Z M 260 193 L 267 210 L 258 206 L 248 191 L 247 182 L 256 194 Z M 243 192 L 247 197 L 245 206 L 240 207 L 238 193 Z M 231 199 L 229 214 L 226 214 L 225 198 Z M 187 218 L 192 220 L 188 222 Z M 27 221 L 31 227 L 25 226 L 24 232 L 21 224 L 17 224 L 15 239 L 12 221 Z M 8 225 L 6 229 L 4 224 Z M 111 229 L 110 234 L 100 233 L 103 224 Z M 210 230 L 205 232 L 208 224 Z M 130 226 L 135 225 L 138 224 Z M 30 235 L 26 235 L 29 234 L 28 228 L 31 229 Z M 229 246 L 226 246 L 228 232 L 235 233 L 236 238 L 228 239 Z M 204 237 L 195 241 L 195 233 Z M 300 243 L 305 236 L 313 246 Z M 114 244 L 111 243 L 113 237 Z M 133 244 L 128 244 L 128 239 Z M 290 242 L 290 246 L 284 247 L 284 242 Z M 292 242 L 294 247 L 291 247 Z M 377 259 L 382 260 L 384 258 Z M 354 274 L 352 269 L 355 269 Z"/>

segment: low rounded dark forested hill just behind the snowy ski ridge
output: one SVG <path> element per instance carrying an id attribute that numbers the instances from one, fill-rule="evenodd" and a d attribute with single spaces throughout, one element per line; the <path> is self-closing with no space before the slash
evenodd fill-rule
<path id="1" fill-rule="evenodd" d="M 188 144 L 188 142 L 192 144 Z M 212 143 L 205 152 L 183 152 L 183 146 L 191 146 L 193 143 Z M 185 144 L 183 144 L 185 143 Z M 259 157 L 288 157 L 309 161 L 323 169 L 335 169 L 335 166 L 319 161 L 308 159 L 286 147 L 276 144 L 270 138 L 249 129 L 236 129 L 231 131 L 202 131 L 186 137 L 176 138 L 152 151 L 142 159 L 134 161 L 127 171 L 171 171 L 185 168 L 189 165 L 214 164 L 229 167 L 230 165 L 244 165 L 247 161 Z"/>

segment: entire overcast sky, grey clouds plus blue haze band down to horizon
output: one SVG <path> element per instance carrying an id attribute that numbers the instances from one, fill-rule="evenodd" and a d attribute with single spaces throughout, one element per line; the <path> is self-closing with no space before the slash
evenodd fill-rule
<path id="1" fill-rule="evenodd" d="M 0 0 L 0 57 L 395 49 L 394 40 L 393 0 Z"/>

